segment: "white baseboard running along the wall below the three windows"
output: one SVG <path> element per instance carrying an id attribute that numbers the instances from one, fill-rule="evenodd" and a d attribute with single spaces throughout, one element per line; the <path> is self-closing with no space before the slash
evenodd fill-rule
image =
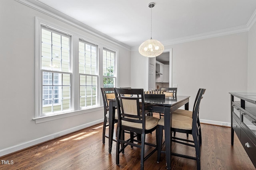
<path id="1" fill-rule="evenodd" d="M 12 147 L 2 149 L 2 150 L 0 150 L 0 157 L 2 157 L 4 155 L 7 155 L 7 154 L 10 154 L 10 153 L 13 153 L 13 152 L 17 152 L 19 150 L 23 150 L 23 149 L 32 147 L 34 145 L 38 145 L 40 143 L 49 141 L 49 140 L 54 139 L 56 137 L 60 137 L 60 136 L 67 135 L 67 134 L 75 132 L 75 131 L 79 131 L 79 130 L 84 129 L 86 127 L 90 127 L 90 126 L 93 126 L 93 125 L 96 125 L 96 124 L 102 123 L 102 122 L 103 122 L 103 119 L 99 119 L 99 120 L 96 120 L 96 121 L 93 121 L 93 122 L 90 122 L 90 123 L 86 123 L 86 124 L 83 124 L 83 125 L 80 125 L 80 126 L 77 126 L 77 127 L 72 127 L 70 129 L 66 129 L 64 131 L 60 131 L 60 132 L 53 133 L 53 134 L 50 134 L 50 135 L 47 135 L 47 136 L 44 136 L 44 137 L 40 137 L 40 138 L 34 139 L 32 141 L 27 141 L 27 142 L 24 142 L 24 143 L 21 143 L 21 144 L 12 146 Z M 56 135 L 56 134 L 58 134 L 58 135 Z"/>

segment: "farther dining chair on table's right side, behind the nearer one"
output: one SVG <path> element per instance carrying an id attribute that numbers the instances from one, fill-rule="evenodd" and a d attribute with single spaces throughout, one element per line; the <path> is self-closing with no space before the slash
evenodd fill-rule
<path id="1" fill-rule="evenodd" d="M 196 101 L 198 100 L 198 96 L 200 94 L 200 91 L 198 90 L 197 94 L 196 94 L 196 99 L 194 102 L 194 106 L 193 106 L 193 110 L 195 109 L 196 106 Z M 199 110 L 198 110 L 199 111 Z M 178 115 L 183 115 L 183 116 L 187 116 L 192 118 L 193 117 L 193 111 L 190 110 L 184 110 L 184 109 L 177 109 L 175 110 L 172 114 L 178 114 Z M 198 127 L 198 131 L 199 131 L 199 143 L 200 145 L 202 144 L 202 132 L 201 132 L 201 126 L 200 126 L 200 120 L 199 117 L 197 119 L 197 127 Z M 175 136 L 175 132 L 173 134 Z M 188 134 L 187 134 L 187 138 L 188 138 Z"/>

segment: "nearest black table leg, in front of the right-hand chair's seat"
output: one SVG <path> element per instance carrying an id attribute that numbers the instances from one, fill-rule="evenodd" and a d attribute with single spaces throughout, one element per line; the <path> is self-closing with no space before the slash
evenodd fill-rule
<path id="1" fill-rule="evenodd" d="M 165 154 L 167 169 L 171 169 L 171 152 L 172 152 L 172 113 L 170 107 L 164 108 L 164 138 L 165 138 Z"/>

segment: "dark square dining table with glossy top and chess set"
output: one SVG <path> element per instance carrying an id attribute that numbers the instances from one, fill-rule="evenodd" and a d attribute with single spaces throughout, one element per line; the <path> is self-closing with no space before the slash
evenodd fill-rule
<path id="1" fill-rule="evenodd" d="M 172 150 L 172 113 L 184 106 L 189 109 L 190 96 L 175 96 L 165 98 L 144 98 L 145 110 L 150 112 L 164 113 L 164 137 L 165 137 L 165 153 L 167 169 L 171 169 L 171 150 Z M 116 109 L 116 99 L 109 100 L 109 148 L 111 153 L 113 136 L 114 136 L 114 119 Z M 112 119 L 111 119 L 112 118 Z"/>

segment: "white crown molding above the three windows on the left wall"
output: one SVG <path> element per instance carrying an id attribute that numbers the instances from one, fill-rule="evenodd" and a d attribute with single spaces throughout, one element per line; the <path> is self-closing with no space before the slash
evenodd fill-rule
<path id="1" fill-rule="evenodd" d="M 28 6 L 30 8 L 33 8 L 34 10 L 37 10 L 37 11 L 42 12 L 48 16 L 51 16 L 52 18 L 55 18 L 64 23 L 67 23 L 73 27 L 76 27 L 82 31 L 85 31 L 86 33 L 94 35 L 95 37 L 98 37 L 104 41 L 107 41 L 109 43 L 117 45 L 118 47 L 122 47 L 128 51 L 131 50 L 130 46 L 98 31 L 92 27 L 89 27 L 88 25 L 86 25 L 78 20 L 75 20 L 74 18 L 72 18 L 66 14 L 63 14 L 62 12 L 55 10 L 54 8 L 51 8 L 50 6 L 47 6 L 46 4 L 43 4 L 42 2 L 39 2 L 37 0 L 16 0 L 16 1 Z"/>

